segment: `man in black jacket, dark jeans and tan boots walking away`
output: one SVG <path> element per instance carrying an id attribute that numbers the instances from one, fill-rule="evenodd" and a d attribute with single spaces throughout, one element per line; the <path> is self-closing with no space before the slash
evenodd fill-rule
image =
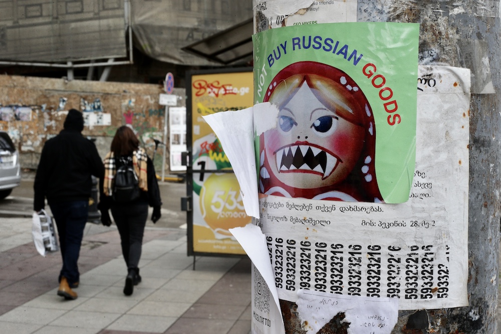
<path id="1" fill-rule="evenodd" d="M 89 213 L 92 176 L 103 178 L 104 166 L 94 143 L 82 136 L 84 118 L 71 109 L 64 129 L 49 139 L 42 149 L 34 183 L 36 212 L 51 207 L 58 227 L 63 267 L 59 274 L 58 295 L 76 299 L 72 290 L 78 286 L 78 257 Z"/>

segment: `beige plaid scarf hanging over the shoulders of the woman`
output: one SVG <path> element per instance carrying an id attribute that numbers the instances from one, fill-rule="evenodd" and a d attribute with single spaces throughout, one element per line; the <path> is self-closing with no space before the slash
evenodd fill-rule
<path id="1" fill-rule="evenodd" d="M 143 148 L 139 148 L 137 151 L 132 152 L 132 165 L 134 166 L 134 171 L 139 181 L 139 189 L 142 191 L 148 191 L 148 175 L 146 171 L 147 159 L 148 156 Z M 113 179 L 115 178 L 117 166 L 113 152 L 108 152 L 103 162 L 103 192 L 106 196 L 111 196 L 113 193 Z"/>

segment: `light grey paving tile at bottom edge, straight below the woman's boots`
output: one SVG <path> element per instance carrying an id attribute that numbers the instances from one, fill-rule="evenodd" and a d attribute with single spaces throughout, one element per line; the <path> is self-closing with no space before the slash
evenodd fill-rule
<path id="1" fill-rule="evenodd" d="M 163 333 L 176 319 L 176 317 L 166 316 L 125 314 L 116 319 L 106 329 Z M 208 331 L 205 333 L 208 333 Z"/>

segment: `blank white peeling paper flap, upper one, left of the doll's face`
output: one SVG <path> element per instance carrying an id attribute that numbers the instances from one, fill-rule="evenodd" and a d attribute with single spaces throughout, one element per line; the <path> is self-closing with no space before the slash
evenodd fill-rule
<path id="1" fill-rule="evenodd" d="M 245 213 L 259 218 L 258 177 L 253 134 L 253 107 L 219 112 L 203 119 L 221 142 L 240 185 Z"/>

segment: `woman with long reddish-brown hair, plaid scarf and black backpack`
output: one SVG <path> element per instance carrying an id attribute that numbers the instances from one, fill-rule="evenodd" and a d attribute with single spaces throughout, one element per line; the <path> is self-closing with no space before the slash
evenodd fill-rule
<path id="1" fill-rule="evenodd" d="M 104 159 L 105 174 L 100 180 L 100 201 L 103 225 L 110 226 L 111 218 L 117 225 L 122 254 L 128 273 L 124 294 L 131 295 L 134 285 L 141 281 L 139 259 L 144 227 L 148 218 L 148 205 L 153 207 L 151 220 L 160 219 L 162 201 L 153 162 L 128 126 L 118 128 L 111 142 L 111 149 Z"/>

